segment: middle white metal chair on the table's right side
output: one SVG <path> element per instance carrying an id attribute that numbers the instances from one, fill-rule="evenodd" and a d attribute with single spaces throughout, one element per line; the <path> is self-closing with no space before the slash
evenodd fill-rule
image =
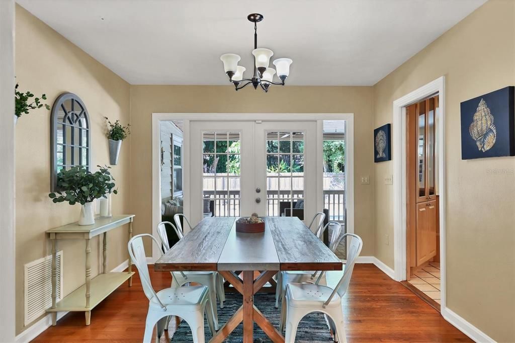
<path id="1" fill-rule="evenodd" d="M 330 226 L 333 226 L 333 232 L 331 234 L 331 239 L 329 241 L 329 249 L 332 252 L 336 251 L 336 247 L 338 247 L 338 238 L 341 233 L 341 224 L 337 221 L 330 221 L 323 228 L 318 230 L 317 237 L 321 239 L 325 230 L 327 230 Z M 286 291 L 286 284 L 290 282 L 310 282 L 315 283 L 317 281 L 318 271 L 281 271 L 277 278 L 277 286 L 276 286 L 276 308 L 279 308 L 279 299 L 284 298 L 284 292 Z M 320 273 L 318 283 L 325 285 L 327 284 L 325 280 L 325 273 Z"/>

